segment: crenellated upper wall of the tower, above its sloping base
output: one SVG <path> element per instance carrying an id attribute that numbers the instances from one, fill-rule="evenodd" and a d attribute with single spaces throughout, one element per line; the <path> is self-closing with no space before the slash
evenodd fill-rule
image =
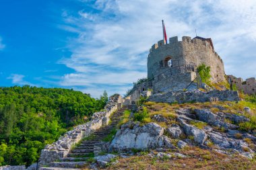
<path id="1" fill-rule="evenodd" d="M 182 41 L 178 37 L 169 39 L 169 44 L 160 40 L 150 48 L 148 55 L 148 79 L 156 77 L 160 73 L 172 69 L 172 75 L 187 73 L 185 68 L 193 66 L 195 69 L 201 64 L 211 67 L 210 74 L 213 82 L 225 81 L 224 64 L 220 56 L 214 51 L 210 38 L 193 38 L 183 36 Z M 172 60 L 172 67 L 166 66 L 166 60 Z M 162 62 L 162 65 L 161 65 Z M 194 70 L 195 71 L 195 70 Z"/>

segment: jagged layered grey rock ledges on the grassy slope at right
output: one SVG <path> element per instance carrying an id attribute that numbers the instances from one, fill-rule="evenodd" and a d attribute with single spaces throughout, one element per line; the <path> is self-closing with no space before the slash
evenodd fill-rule
<path id="1" fill-rule="evenodd" d="M 214 114 L 206 109 L 195 109 L 194 112 L 196 116 L 196 120 L 194 120 L 194 122 L 206 122 L 208 125 L 204 126 L 202 129 L 198 129 L 189 124 L 192 119 L 187 117 L 187 115 L 191 114 L 191 110 L 182 109 L 177 111 L 179 114 L 177 120 L 185 134 L 187 136 L 193 136 L 193 139 L 197 144 L 207 146 L 212 142 L 212 144 L 215 144 L 218 148 L 218 151 L 222 153 L 230 153 L 230 151 L 232 151 L 232 153 L 239 153 L 245 157 L 249 157 L 250 159 L 253 158 L 255 152 L 250 148 L 249 144 L 243 140 L 243 138 L 250 138 L 255 144 L 255 136 L 237 130 L 238 126 L 235 124 L 224 122 L 224 119 L 229 119 L 238 124 L 249 121 L 248 118 L 236 114 L 224 114 L 222 112 Z M 226 131 L 218 132 L 218 130 L 214 130 L 214 127 L 221 127 Z M 241 137 L 238 138 L 237 134 Z M 178 147 L 181 148 L 182 146 L 183 141 L 180 140 L 178 142 Z"/>

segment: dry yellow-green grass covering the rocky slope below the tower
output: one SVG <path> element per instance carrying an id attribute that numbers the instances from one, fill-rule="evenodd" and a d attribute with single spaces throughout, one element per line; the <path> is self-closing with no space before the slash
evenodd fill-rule
<path id="1" fill-rule="evenodd" d="M 239 126 L 238 130 L 241 130 L 244 134 L 250 133 L 255 136 L 256 132 L 256 97 L 255 96 L 245 96 L 243 101 L 232 102 L 232 101 L 215 101 L 215 102 L 205 102 L 205 103 L 155 103 L 152 101 L 141 102 L 140 104 L 143 108 L 138 112 L 133 114 L 131 118 L 131 111 L 126 110 L 122 116 L 121 122 L 119 122 L 119 127 L 128 121 L 133 121 L 139 123 L 141 126 L 149 122 L 154 122 L 162 126 L 162 128 L 168 128 L 172 124 L 179 124 L 177 122 L 177 112 L 179 109 L 190 109 L 191 112 L 195 109 L 208 109 L 210 112 L 217 114 L 218 112 L 223 112 L 224 114 L 236 114 L 246 116 L 250 119 L 249 122 L 243 122 L 236 124 Z M 223 108 L 219 110 L 218 107 Z M 245 112 L 244 108 L 249 107 L 251 109 L 251 114 Z M 154 115 L 162 115 L 166 118 L 166 122 L 158 122 L 154 120 Z M 233 123 L 228 119 L 224 120 L 228 123 Z M 205 122 L 191 122 L 191 125 L 203 129 L 205 126 L 210 127 L 209 124 Z M 226 133 L 226 130 L 218 127 L 212 126 L 214 131 Z M 168 133 L 164 133 L 168 136 Z M 141 151 L 138 149 L 131 149 L 125 157 L 117 156 L 115 159 L 108 163 L 107 167 L 104 169 L 256 169 L 256 157 L 253 159 L 248 159 L 247 157 L 242 157 L 238 153 L 232 152 L 232 149 L 226 150 L 226 154 L 217 152 L 218 146 L 213 142 L 209 142 L 207 146 L 201 147 L 191 138 L 191 145 L 185 148 L 178 148 L 177 143 L 179 140 L 184 140 L 189 136 L 181 136 L 180 138 L 171 138 L 171 142 L 177 148 L 162 149 L 160 151 L 154 149 L 148 149 L 146 151 Z M 255 143 L 251 138 L 245 138 L 242 134 L 234 134 L 233 139 L 239 139 L 247 142 L 249 146 L 255 151 Z M 246 151 L 246 150 L 245 150 Z M 159 153 L 165 153 L 172 155 L 172 157 L 158 157 Z M 185 155 L 185 157 L 175 156 L 176 153 Z M 114 153 L 115 154 L 115 153 Z M 88 169 L 85 167 L 84 169 Z"/>

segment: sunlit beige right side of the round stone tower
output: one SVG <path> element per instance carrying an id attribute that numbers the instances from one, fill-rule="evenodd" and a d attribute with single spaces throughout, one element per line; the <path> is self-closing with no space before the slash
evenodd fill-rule
<path id="1" fill-rule="evenodd" d="M 223 61 L 207 40 L 183 36 L 182 49 L 185 64 L 198 67 L 204 63 L 211 67 L 211 81 L 226 81 Z"/>

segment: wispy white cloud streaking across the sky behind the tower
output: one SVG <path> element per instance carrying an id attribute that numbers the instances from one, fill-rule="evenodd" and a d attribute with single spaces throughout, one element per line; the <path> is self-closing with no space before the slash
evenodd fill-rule
<path id="1" fill-rule="evenodd" d="M 96 94 L 91 87 L 127 87 L 145 77 L 148 50 L 162 38 L 162 19 L 168 36 L 194 36 L 197 28 L 199 36 L 211 37 L 226 73 L 256 77 L 255 7 L 253 0 L 98 0 L 97 13 L 82 9 L 75 17 L 65 11 L 60 27 L 78 36 L 69 39 L 71 56 L 59 61 L 75 71 L 63 75 L 61 85 L 86 86 Z"/>

